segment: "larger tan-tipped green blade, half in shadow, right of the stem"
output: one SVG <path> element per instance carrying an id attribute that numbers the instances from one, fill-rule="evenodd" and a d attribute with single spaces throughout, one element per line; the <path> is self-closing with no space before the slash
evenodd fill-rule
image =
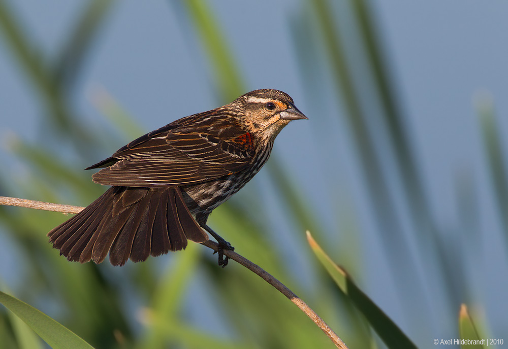
<path id="1" fill-rule="evenodd" d="M 398 326 L 353 282 L 347 272 L 335 264 L 317 245 L 310 232 L 307 240 L 317 259 L 323 264 L 339 289 L 363 313 L 369 324 L 389 348 L 416 348 Z"/>

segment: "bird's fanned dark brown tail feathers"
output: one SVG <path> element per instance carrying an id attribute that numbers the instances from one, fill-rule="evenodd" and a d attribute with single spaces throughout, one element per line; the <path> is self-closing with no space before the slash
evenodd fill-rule
<path id="1" fill-rule="evenodd" d="M 111 187 L 48 236 L 70 261 L 101 263 L 109 252 L 113 265 L 185 249 L 187 239 L 208 240 L 177 187 Z"/>

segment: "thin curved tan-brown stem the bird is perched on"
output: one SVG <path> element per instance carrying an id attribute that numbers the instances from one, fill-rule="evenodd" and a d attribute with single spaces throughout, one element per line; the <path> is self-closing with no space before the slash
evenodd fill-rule
<path id="1" fill-rule="evenodd" d="M 76 214 L 83 210 L 84 207 L 72 206 L 72 205 L 60 205 L 56 203 L 35 201 L 35 200 L 25 200 L 18 199 L 14 197 L 6 197 L 0 196 L 0 205 L 9 205 L 9 206 L 19 206 L 19 207 L 27 207 L 27 208 L 35 208 L 36 210 L 46 210 L 46 211 L 55 211 L 61 212 L 65 214 Z M 218 245 L 214 241 L 205 241 L 202 245 L 217 251 Z M 239 255 L 238 253 L 230 250 L 224 250 L 224 255 L 228 256 L 232 260 L 240 263 L 247 269 L 259 275 L 263 280 L 276 288 L 280 293 L 284 296 L 288 297 L 293 303 L 296 304 L 309 318 L 312 320 L 325 334 L 332 340 L 332 342 L 340 349 L 347 349 L 347 346 L 344 342 L 337 336 L 335 332 L 321 319 L 314 310 L 312 310 L 300 297 L 298 297 L 293 291 L 289 288 L 285 287 L 280 281 L 278 281 L 271 274 L 263 270 L 257 264 L 252 263 L 245 257 Z"/>

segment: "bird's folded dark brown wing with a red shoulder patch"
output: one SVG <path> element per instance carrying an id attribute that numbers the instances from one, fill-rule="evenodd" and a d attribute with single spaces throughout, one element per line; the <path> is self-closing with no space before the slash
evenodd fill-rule
<path id="1" fill-rule="evenodd" d="M 189 118 L 147 133 L 90 166 L 109 166 L 95 173 L 93 181 L 131 187 L 190 185 L 231 175 L 250 162 L 252 136 L 238 123 Z"/>

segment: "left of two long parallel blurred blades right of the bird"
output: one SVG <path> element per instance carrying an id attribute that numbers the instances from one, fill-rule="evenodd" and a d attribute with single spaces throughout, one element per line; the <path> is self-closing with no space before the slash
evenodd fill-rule
<path id="1" fill-rule="evenodd" d="M 323 49 L 329 60 L 330 76 L 337 87 L 337 95 L 343 101 L 348 127 L 351 128 L 351 140 L 357 151 L 362 182 L 366 188 L 369 205 L 379 231 L 383 232 L 382 246 L 390 270 L 396 283 L 405 283 L 409 289 L 397 289 L 397 298 L 404 300 L 405 293 L 409 292 L 416 297 L 423 296 L 423 278 L 414 271 L 418 269 L 418 261 L 424 260 L 423 252 L 410 248 L 414 236 L 406 234 L 399 213 L 396 211 L 396 197 L 391 192 L 391 183 L 388 172 L 384 169 L 385 159 L 378 152 L 375 137 L 369 128 L 371 118 L 367 115 L 362 104 L 368 100 L 357 88 L 354 75 L 354 64 L 347 58 L 347 45 L 343 40 L 345 33 L 339 32 L 338 19 L 334 17 L 332 2 L 328 0 L 315 0 L 309 2 L 316 14 L 316 24 L 323 40 Z M 424 245 L 425 246 L 425 245 Z M 393 251 L 396 253 L 393 253 Z M 415 251 L 410 253 L 409 251 Z M 433 250 L 431 250 L 433 251 Z M 437 272 L 436 271 L 436 275 Z M 413 311 L 427 313 L 429 306 L 425 301 L 414 303 L 415 308 L 409 313 L 408 307 L 403 307 L 410 326 L 418 326 Z M 423 319 L 427 319 L 423 317 Z M 419 319 L 420 320 L 420 319 Z"/>

